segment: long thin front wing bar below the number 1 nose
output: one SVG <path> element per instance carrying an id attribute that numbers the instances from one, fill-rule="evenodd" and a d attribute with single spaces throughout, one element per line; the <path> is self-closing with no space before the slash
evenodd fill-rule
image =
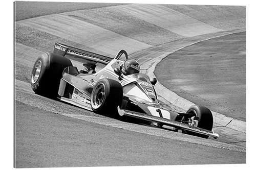
<path id="1" fill-rule="evenodd" d="M 135 112 L 135 111 L 120 109 L 119 106 L 117 109 L 118 109 L 118 113 L 120 116 L 126 115 L 126 116 L 136 117 L 139 119 L 149 120 L 151 122 L 161 123 L 161 124 L 164 124 L 164 125 L 167 125 L 170 127 L 175 127 L 177 129 L 187 130 L 187 131 L 211 136 L 211 137 L 214 137 L 215 139 L 217 139 L 219 137 L 219 135 L 217 133 L 214 133 L 213 131 L 198 128 L 195 126 L 190 126 L 190 125 L 183 124 L 183 123 L 180 123 L 180 122 L 177 122 L 174 120 L 169 120 L 169 119 L 166 119 L 163 117 L 151 116 L 151 115 L 147 115 L 147 114 L 141 114 L 141 113 Z"/>

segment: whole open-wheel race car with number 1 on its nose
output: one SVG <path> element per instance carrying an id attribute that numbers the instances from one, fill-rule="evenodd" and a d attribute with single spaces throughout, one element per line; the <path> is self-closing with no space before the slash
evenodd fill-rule
<path id="1" fill-rule="evenodd" d="M 71 60 L 82 62 L 83 69 L 78 70 Z M 133 117 L 159 128 L 219 137 L 211 131 L 209 109 L 194 105 L 179 113 L 157 99 L 156 83 L 156 78 L 140 73 L 137 61 L 129 59 L 124 50 L 113 59 L 57 42 L 53 53 L 35 61 L 31 75 L 33 91 L 48 98 L 115 118 Z"/>

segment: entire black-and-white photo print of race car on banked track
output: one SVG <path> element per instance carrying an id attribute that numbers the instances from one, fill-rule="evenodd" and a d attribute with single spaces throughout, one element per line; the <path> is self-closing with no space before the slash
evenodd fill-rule
<path id="1" fill-rule="evenodd" d="M 247 8 L 14 1 L 13 167 L 246 165 Z"/>

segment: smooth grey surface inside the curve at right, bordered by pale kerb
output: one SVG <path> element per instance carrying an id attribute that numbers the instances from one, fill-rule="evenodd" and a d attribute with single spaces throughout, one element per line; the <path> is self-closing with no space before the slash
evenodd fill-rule
<path id="1" fill-rule="evenodd" d="M 187 46 L 165 57 L 155 75 L 182 98 L 246 120 L 246 32 Z"/>

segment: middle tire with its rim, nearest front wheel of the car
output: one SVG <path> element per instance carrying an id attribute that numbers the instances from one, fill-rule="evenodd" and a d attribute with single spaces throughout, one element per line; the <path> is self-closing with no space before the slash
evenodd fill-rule
<path id="1" fill-rule="evenodd" d="M 117 106 L 122 104 L 122 98 L 123 89 L 119 82 L 112 79 L 101 79 L 92 91 L 92 110 L 96 113 L 118 117 Z"/>

